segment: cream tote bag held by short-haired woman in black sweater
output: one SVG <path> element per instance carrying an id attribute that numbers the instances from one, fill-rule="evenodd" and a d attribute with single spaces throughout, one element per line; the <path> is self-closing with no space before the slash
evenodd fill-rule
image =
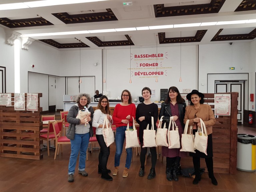
<path id="1" fill-rule="evenodd" d="M 142 147 L 157 147 L 156 145 L 156 131 L 154 130 L 154 118 L 151 117 L 151 129 L 149 124 L 146 129 L 143 130 L 143 146 Z"/>

